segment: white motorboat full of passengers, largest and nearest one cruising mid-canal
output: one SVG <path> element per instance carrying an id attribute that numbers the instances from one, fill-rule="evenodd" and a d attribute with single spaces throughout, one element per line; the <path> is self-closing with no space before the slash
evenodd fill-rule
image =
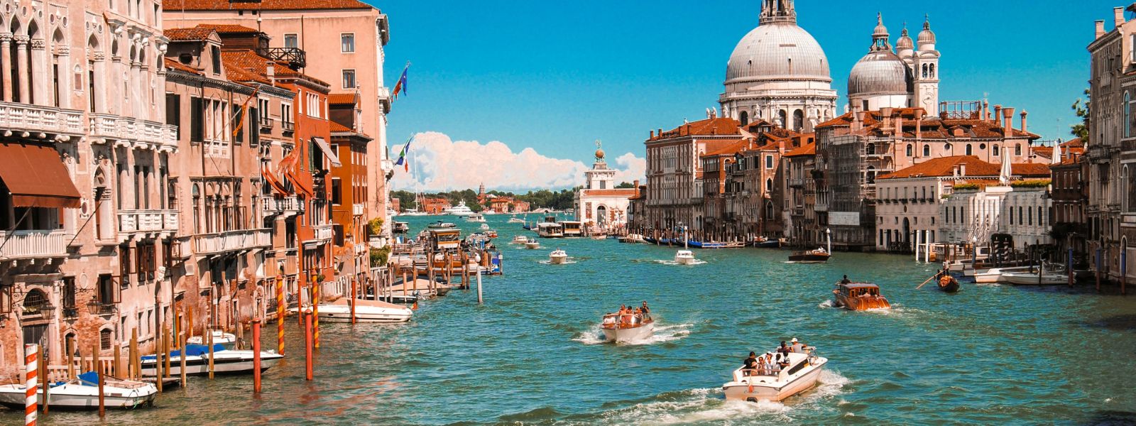
<path id="1" fill-rule="evenodd" d="M 730 382 L 721 385 L 726 400 L 782 401 L 817 384 L 827 358 L 815 353 L 788 353 L 785 367 L 747 370 L 744 366 L 734 370 Z"/>

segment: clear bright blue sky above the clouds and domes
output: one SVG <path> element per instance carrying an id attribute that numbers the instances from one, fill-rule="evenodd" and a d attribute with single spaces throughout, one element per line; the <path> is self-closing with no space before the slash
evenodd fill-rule
<path id="1" fill-rule="evenodd" d="M 587 164 L 596 139 L 609 157 L 643 157 L 649 130 L 717 107 L 726 61 L 757 26 L 760 7 L 759 0 L 374 3 L 391 23 L 387 85 L 412 62 L 409 93 L 390 116 L 392 151 L 411 134 L 434 131 Z M 863 3 L 870 5 L 849 8 Z M 914 36 L 929 14 L 943 55 L 941 100 L 985 93 L 991 105 L 1028 110 L 1031 132 L 1069 139 L 1076 118 L 1069 105 L 1087 87 L 1093 20 L 1111 28 L 1112 7 L 1125 5 L 797 1 L 796 10 L 832 64 L 838 111 L 876 12 L 893 44 L 903 22 Z"/>

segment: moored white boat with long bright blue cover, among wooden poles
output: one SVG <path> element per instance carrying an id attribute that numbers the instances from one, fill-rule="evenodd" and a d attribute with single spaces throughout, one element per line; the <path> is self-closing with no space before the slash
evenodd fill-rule
<path id="1" fill-rule="evenodd" d="M 219 344 L 215 344 L 212 353 L 214 374 L 250 374 L 252 373 L 252 358 L 254 356 L 253 351 L 227 350 Z M 182 374 L 182 357 L 183 351 L 169 352 L 169 375 L 176 376 Z M 209 346 L 203 344 L 186 344 L 184 357 L 186 375 L 200 376 L 209 374 Z M 283 358 L 284 356 L 276 353 L 276 351 L 260 351 L 260 370 L 264 371 L 272 368 Z M 156 376 L 158 374 L 157 364 L 157 356 L 142 357 L 142 375 Z"/>

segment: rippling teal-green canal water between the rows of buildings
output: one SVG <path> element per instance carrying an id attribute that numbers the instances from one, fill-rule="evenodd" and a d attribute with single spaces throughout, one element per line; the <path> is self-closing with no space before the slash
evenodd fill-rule
<path id="1" fill-rule="evenodd" d="M 536 216 L 531 216 L 535 219 Z M 428 217 L 409 220 L 417 233 Z M 475 224 L 448 218 L 470 231 Z M 252 395 L 251 377 L 193 378 L 151 409 L 108 424 L 755 425 L 1093 424 L 1136 419 L 1136 295 L 1088 289 L 964 284 L 958 294 L 916 285 L 935 265 L 911 257 L 836 253 L 787 264 L 787 251 L 695 250 L 615 240 L 541 240 L 490 216 L 504 275 L 420 304 L 406 325 L 325 324 L 316 379 L 303 379 L 301 333 Z M 545 265 L 565 249 L 568 265 Z M 883 287 L 889 311 L 829 307 L 847 274 Z M 620 303 L 651 304 L 657 335 L 600 343 Z M 265 333 L 272 348 L 275 328 Z M 816 389 L 784 403 L 726 402 L 720 385 L 749 351 L 791 337 L 828 357 Z M 9 411 L 0 423 L 18 424 Z M 97 415 L 52 412 L 45 425 Z"/>

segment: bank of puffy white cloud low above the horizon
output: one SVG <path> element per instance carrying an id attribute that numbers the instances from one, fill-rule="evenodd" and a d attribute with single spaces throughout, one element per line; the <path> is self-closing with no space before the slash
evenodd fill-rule
<path id="1" fill-rule="evenodd" d="M 483 182 L 488 190 L 559 190 L 582 184 L 584 170 L 591 168 L 577 160 L 542 156 L 532 148 L 513 152 L 500 141 L 453 141 L 438 132 L 415 135 L 408 157 L 411 170 L 395 166 L 394 190 L 476 190 Z M 646 160 L 627 152 L 616 158 L 613 168 L 617 183 L 642 179 Z"/>

